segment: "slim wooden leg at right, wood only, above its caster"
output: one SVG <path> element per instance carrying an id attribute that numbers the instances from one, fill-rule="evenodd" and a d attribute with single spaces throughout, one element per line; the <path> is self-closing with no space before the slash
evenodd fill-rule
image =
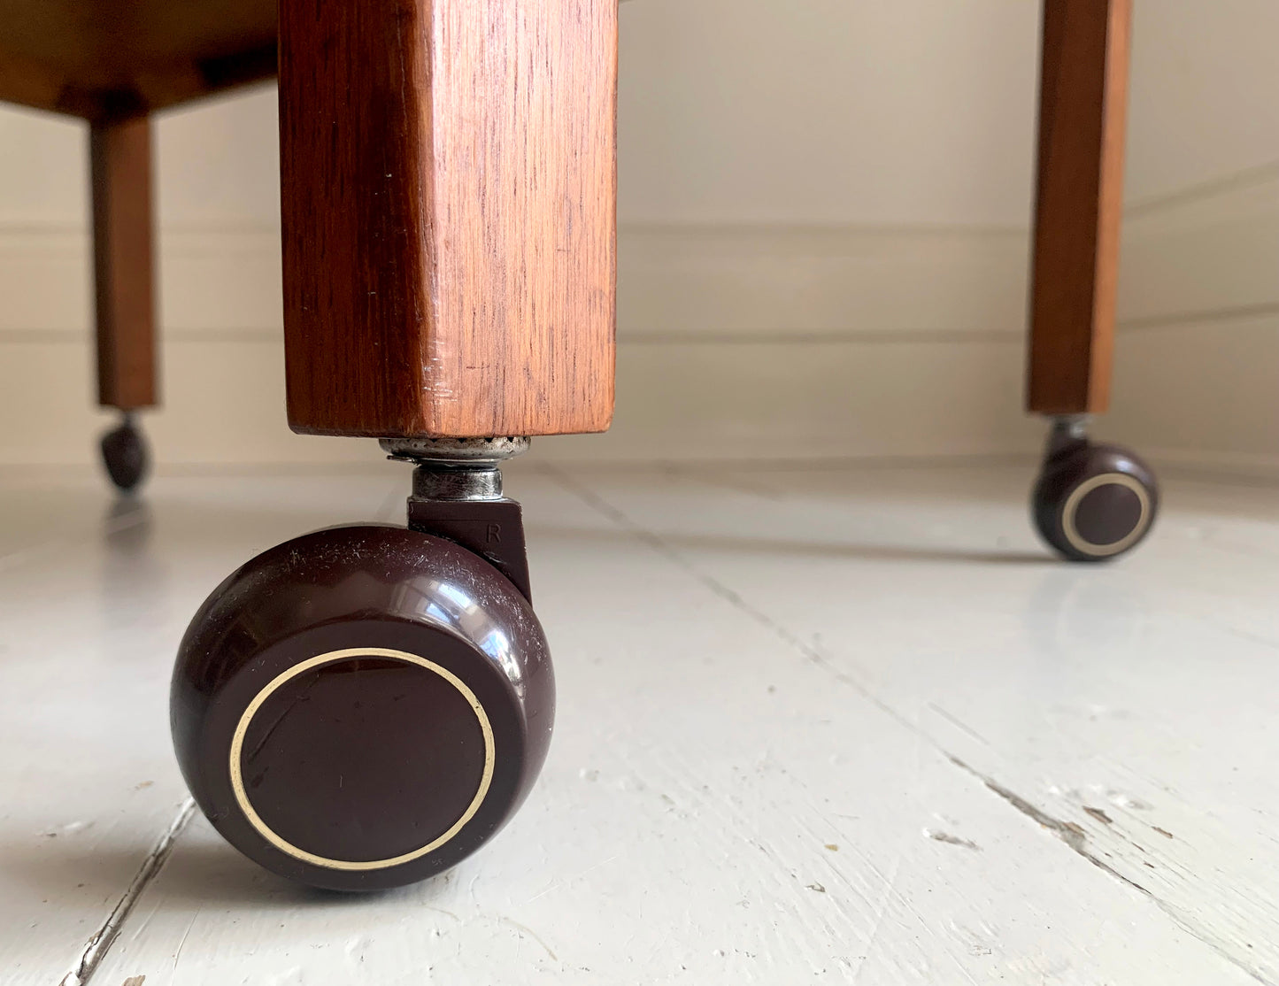
<path id="1" fill-rule="evenodd" d="M 1028 408 L 1110 399 L 1131 0 L 1045 0 Z"/>

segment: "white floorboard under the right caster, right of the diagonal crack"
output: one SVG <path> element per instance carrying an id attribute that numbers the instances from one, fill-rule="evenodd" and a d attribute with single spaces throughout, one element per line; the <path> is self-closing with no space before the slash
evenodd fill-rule
<path id="1" fill-rule="evenodd" d="M 1147 545 L 1077 568 L 1031 540 L 1028 480 L 574 477 L 1099 880 L 1279 981 L 1274 490 L 1169 482 Z"/>

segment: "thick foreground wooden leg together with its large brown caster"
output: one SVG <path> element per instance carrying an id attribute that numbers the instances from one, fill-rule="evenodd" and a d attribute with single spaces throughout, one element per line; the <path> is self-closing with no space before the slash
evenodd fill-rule
<path id="1" fill-rule="evenodd" d="M 486 843 L 550 742 L 499 467 L 613 411 L 616 0 L 279 10 L 289 423 L 417 468 L 407 527 L 316 531 L 214 591 L 171 723 L 233 845 L 376 890 Z"/>

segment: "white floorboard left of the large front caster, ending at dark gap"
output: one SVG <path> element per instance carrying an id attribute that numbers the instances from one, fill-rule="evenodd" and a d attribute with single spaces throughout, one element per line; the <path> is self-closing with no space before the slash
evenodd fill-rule
<path id="1" fill-rule="evenodd" d="M 182 810 L 169 674 L 203 596 L 284 537 L 389 519 L 391 487 L 160 478 L 122 505 L 84 471 L 0 477 L 0 980 L 52 986 L 92 958 Z"/>

